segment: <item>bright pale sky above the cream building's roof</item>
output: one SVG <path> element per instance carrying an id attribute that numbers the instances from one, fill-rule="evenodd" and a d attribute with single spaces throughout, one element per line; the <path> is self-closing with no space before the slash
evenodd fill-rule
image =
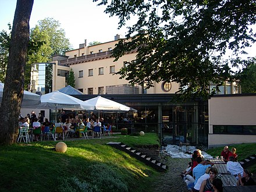
<path id="1" fill-rule="evenodd" d="M 0 0 L 0 31 L 8 31 L 12 25 L 16 0 Z M 116 34 L 125 37 L 126 28 L 118 30 L 118 17 L 109 17 L 104 6 L 97 6 L 93 0 L 34 0 L 30 17 L 30 29 L 38 20 L 52 17 L 61 23 L 73 48 L 87 40 L 89 42 L 113 41 Z"/>

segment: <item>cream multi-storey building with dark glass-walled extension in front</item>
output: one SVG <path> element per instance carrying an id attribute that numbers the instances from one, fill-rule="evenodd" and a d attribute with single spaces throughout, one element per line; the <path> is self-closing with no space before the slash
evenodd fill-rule
<path id="1" fill-rule="evenodd" d="M 155 131 L 164 144 L 184 141 L 205 145 L 225 143 L 214 142 L 215 134 L 212 127 L 218 123 L 216 124 L 214 111 L 209 109 L 209 106 L 215 105 L 215 102 L 212 102 L 215 98 L 209 99 L 209 102 L 198 99 L 177 104 L 172 101 L 179 89 L 177 83 L 162 81 L 154 83 L 154 87 L 145 89 L 144 86 L 131 86 L 125 79 L 119 79 L 115 72 L 125 67 L 127 62 L 136 59 L 137 52 L 136 49 L 127 52 L 117 62 L 113 62 L 112 49 L 118 40 L 119 35 L 116 35 L 114 41 L 92 46 L 87 46 L 85 41 L 79 45 L 79 49 L 67 51 L 65 56 L 54 56 L 52 62 L 35 63 L 31 72 L 31 91 L 41 91 L 44 94 L 67 86 L 67 74 L 73 69 L 75 88 L 84 93 L 73 95 L 74 97 L 87 100 L 104 95 L 137 110 L 122 114 L 101 113 L 105 119 L 119 127 L 129 127 L 131 131 L 133 127 L 136 131 Z M 217 94 L 239 94 L 240 91 L 236 82 L 226 81 Z M 93 112 L 87 112 L 87 116 L 90 116 L 90 113 Z M 209 118 L 209 113 L 212 119 Z M 122 119 L 130 119 L 130 122 L 127 124 Z M 213 120 L 211 124 L 209 119 Z M 256 122 L 252 122 L 251 125 L 256 125 Z"/>

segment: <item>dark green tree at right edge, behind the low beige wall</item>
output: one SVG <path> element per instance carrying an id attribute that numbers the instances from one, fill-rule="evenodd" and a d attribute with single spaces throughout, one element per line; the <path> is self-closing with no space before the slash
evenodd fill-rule
<path id="1" fill-rule="evenodd" d="M 256 58 L 244 62 L 244 69 L 237 73 L 242 93 L 256 93 Z"/>

